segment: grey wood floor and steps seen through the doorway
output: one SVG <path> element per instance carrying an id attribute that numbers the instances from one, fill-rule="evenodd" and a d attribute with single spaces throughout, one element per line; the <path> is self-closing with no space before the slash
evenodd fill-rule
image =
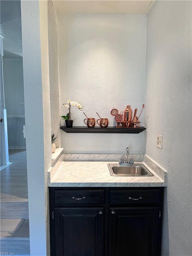
<path id="1" fill-rule="evenodd" d="M 1 219 L 25 221 L 16 232 L 0 232 L 0 254 L 30 255 L 26 151 L 10 150 L 9 161 L 0 171 Z"/>

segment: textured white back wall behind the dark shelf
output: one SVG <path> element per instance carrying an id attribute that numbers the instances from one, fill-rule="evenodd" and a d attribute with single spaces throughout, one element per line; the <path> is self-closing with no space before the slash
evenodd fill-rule
<path id="1" fill-rule="evenodd" d="M 96 111 L 109 118 L 112 107 L 127 104 L 141 110 L 145 100 L 146 15 L 58 15 L 60 114 L 62 103 L 78 100 L 89 117 Z M 85 116 L 72 108 L 74 126 L 84 126 Z M 142 118 L 141 118 L 142 120 Z M 62 124 L 64 121 L 62 120 Z M 96 124 L 98 126 L 98 124 Z M 61 146 L 70 153 L 143 152 L 143 133 L 65 134 Z"/>

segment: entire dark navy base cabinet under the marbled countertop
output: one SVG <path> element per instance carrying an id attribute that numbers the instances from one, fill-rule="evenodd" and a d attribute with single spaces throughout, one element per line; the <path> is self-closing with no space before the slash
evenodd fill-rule
<path id="1" fill-rule="evenodd" d="M 163 188 L 49 192 L 51 256 L 160 256 Z"/>

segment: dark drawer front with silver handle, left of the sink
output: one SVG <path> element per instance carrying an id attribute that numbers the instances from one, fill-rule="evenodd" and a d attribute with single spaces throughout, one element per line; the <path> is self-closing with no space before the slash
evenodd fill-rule
<path id="1" fill-rule="evenodd" d="M 55 204 L 104 204 L 104 190 L 55 190 Z"/>

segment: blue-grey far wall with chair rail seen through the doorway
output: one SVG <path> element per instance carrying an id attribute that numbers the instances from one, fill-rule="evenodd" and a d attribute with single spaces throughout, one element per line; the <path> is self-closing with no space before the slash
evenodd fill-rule
<path id="1" fill-rule="evenodd" d="M 24 102 L 23 59 L 3 58 L 3 77 L 9 148 L 25 148 L 25 107 L 20 104 Z"/>

